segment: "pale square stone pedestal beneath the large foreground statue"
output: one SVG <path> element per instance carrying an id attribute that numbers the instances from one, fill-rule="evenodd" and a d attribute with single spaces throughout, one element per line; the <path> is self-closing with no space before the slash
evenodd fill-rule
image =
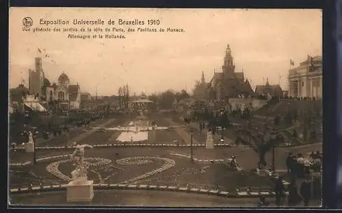
<path id="1" fill-rule="evenodd" d="M 66 186 L 67 202 L 90 202 L 94 197 L 92 180 L 84 182 L 72 181 Z"/>

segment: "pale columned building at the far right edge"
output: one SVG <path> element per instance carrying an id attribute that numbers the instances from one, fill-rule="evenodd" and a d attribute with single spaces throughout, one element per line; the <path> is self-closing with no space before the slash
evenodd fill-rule
<path id="1" fill-rule="evenodd" d="M 322 79 L 322 57 L 308 55 L 300 66 L 289 70 L 289 96 L 321 98 Z"/>

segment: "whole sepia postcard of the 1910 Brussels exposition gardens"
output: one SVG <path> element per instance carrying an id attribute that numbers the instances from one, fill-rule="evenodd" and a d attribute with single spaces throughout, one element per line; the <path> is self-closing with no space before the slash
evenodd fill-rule
<path id="1" fill-rule="evenodd" d="M 321 206 L 321 10 L 9 15 L 13 207 Z"/>

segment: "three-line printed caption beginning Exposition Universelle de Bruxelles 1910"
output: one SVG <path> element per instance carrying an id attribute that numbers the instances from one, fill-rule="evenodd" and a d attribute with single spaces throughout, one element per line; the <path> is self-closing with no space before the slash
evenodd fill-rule
<path id="1" fill-rule="evenodd" d="M 77 19 L 64 20 L 54 19 L 46 20 L 39 18 L 34 20 L 36 26 L 24 26 L 23 31 L 32 33 L 66 33 L 66 38 L 107 38 L 120 39 L 126 38 L 129 33 L 184 33 L 185 29 L 178 27 L 161 27 L 161 20 L 146 19 L 140 20 L 133 18 L 130 20 L 124 18 L 103 20 Z M 37 25 L 38 24 L 38 25 Z"/>

